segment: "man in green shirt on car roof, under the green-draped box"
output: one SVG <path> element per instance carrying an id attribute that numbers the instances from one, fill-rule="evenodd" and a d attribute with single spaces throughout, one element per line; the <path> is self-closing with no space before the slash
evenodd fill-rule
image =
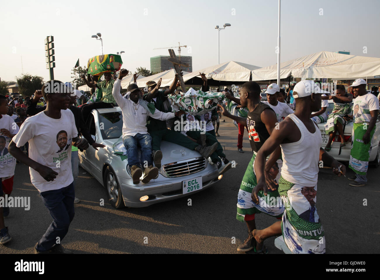
<path id="1" fill-rule="evenodd" d="M 89 88 L 99 88 L 102 94 L 100 102 L 93 102 L 83 106 L 82 112 L 85 121 L 92 109 L 112 108 L 116 106 L 116 101 L 112 96 L 112 88 L 114 87 L 115 80 L 112 79 L 111 72 L 104 73 L 104 80 L 100 82 L 94 81 L 94 83 L 89 83 L 85 75 L 82 75 L 82 79 Z"/>

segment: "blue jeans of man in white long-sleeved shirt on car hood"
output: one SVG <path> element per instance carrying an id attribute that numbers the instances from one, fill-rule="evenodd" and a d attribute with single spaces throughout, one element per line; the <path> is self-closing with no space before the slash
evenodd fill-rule
<path id="1" fill-rule="evenodd" d="M 147 134 L 137 133 L 135 136 L 124 136 L 123 143 L 127 149 L 128 165 L 144 166 L 147 162 L 148 166 L 153 165 L 152 160 L 152 137 Z M 138 158 L 138 147 L 141 147 L 141 157 Z M 140 165 L 141 162 L 141 165 Z"/>

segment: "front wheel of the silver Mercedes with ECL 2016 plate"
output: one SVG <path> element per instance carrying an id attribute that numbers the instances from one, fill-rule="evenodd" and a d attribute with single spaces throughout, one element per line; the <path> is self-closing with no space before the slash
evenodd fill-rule
<path id="1" fill-rule="evenodd" d="M 117 181 L 115 172 L 109 166 L 104 174 L 104 186 L 106 189 L 109 203 L 112 207 L 120 209 L 123 208 L 124 200 L 120 189 L 120 184 Z"/>

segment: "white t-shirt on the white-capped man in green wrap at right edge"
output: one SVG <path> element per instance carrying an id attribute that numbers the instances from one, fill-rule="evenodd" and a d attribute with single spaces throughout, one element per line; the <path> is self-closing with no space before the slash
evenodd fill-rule
<path id="1" fill-rule="evenodd" d="M 353 100 L 354 123 L 366 123 L 371 120 L 370 111 L 379 109 L 379 100 L 372 93 L 358 96 Z"/>

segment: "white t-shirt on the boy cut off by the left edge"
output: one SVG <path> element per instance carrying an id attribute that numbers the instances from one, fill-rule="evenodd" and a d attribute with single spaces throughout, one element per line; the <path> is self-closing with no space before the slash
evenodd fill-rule
<path id="1" fill-rule="evenodd" d="M 19 126 L 16 125 L 13 118 L 8 115 L 1 115 L 0 128 L 9 130 L 11 134 L 19 132 Z M 8 151 L 9 142 L 11 138 L 1 135 L 0 133 L 0 180 L 14 175 L 14 168 L 16 168 L 16 158 L 14 158 Z M 5 144 L 5 145 L 4 145 Z"/>

